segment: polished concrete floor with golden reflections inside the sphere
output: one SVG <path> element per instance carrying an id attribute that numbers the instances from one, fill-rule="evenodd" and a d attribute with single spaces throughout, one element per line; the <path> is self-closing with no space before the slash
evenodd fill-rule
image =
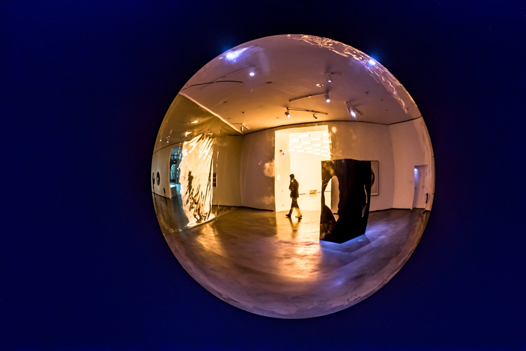
<path id="1" fill-rule="evenodd" d="M 226 208 L 181 230 L 177 200 L 154 195 L 166 241 L 209 292 L 252 313 L 307 318 L 352 306 L 385 285 L 417 246 L 422 209 L 371 212 L 366 234 L 343 244 L 319 240 L 319 211 Z M 175 207 L 175 208 L 174 208 Z"/>

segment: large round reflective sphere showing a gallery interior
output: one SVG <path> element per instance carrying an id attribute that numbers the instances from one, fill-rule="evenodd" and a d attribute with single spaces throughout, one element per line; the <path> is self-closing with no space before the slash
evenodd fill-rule
<path id="1" fill-rule="evenodd" d="M 256 39 L 201 68 L 166 113 L 151 172 L 179 263 L 276 318 L 335 313 L 385 285 L 422 236 L 435 178 L 400 82 L 311 35 Z"/>

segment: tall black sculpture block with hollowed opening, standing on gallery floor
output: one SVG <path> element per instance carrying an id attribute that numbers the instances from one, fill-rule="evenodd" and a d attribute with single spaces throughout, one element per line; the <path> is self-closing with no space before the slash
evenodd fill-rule
<path id="1" fill-rule="evenodd" d="M 333 185 L 332 209 L 325 199 L 329 181 Z M 351 158 L 322 161 L 321 182 L 320 239 L 341 244 L 365 234 L 371 200 L 371 162 Z"/>

